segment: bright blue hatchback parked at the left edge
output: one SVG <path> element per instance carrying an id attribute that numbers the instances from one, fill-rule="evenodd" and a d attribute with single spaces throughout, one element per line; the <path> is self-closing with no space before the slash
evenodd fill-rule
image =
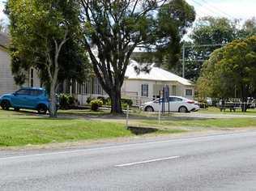
<path id="1" fill-rule="evenodd" d="M 49 98 L 45 89 L 38 87 L 24 87 L 12 94 L 0 96 L 2 109 L 20 108 L 35 109 L 38 113 L 45 114 L 49 109 Z"/>

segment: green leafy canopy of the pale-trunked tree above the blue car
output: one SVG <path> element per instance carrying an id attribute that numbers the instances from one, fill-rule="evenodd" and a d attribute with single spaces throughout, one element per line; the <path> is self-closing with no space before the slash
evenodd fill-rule
<path id="1" fill-rule="evenodd" d="M 79 4 L 75 0 L 9 0 L 6 13 L 11 25 L 11 60 L 15 82 L 25 81 L 30 67 L 40 73 L 41 82 L 49 87 L 50 60 L 54 61 L 55 41 L 67 41 L 58 56 L 58 81 L 84 79 L 87 57 L 81 48 L 79 36 Z M 50 66 L 53 73 L 54 66 Z"/>

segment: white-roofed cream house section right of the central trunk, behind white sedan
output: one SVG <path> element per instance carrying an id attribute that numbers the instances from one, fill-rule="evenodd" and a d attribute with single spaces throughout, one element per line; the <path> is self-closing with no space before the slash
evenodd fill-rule
<path id="1" fill-rule="evenodd" d="M 149 73 L 134 71 L 137 63 L 132 61 L 126 71 L 126 80 L 122 91 L 134 92 L 137 96 L 156 98 L 165 85 L 169 86 L 171 96 L 194 97 L 194 85 L 190 80 L 183 79 L 159 67 L 151 66 Z"/>

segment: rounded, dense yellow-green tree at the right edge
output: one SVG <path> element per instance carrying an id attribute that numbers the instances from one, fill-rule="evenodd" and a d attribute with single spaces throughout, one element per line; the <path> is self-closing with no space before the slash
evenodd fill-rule
<path id="1" fill-rule="evenodd" d="M 255 97 L 255 73 L 256 36 L 233 40 L 215 50 L 203 64 L 203 74 L 198 79 L 199 95 L 228 98 L 237 93 L 246 102 L 248 97 Z"/>

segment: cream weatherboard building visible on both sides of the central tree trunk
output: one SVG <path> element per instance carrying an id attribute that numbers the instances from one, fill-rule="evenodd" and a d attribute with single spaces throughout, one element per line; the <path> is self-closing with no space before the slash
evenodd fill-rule
<path id="1" fill-rule="evenodd" d="M 169 86 L 170 96 L 194 98 L 194 84 L 159 67 L 151 66 L 149 73 L 137 72 L 134 66 L 139 63 L 131 60 L 126 70 L 126 79 L 122 86 L 122 97 L 133 100 L 134 104 L 142 104 L 160 95 L 164 86 Z M 99 81 L 92 77 L 90 81 L 76 85 L 75 94 L 80 104 L 85 104 L 88 97 L 107 96 L 100 87 Z"/>

